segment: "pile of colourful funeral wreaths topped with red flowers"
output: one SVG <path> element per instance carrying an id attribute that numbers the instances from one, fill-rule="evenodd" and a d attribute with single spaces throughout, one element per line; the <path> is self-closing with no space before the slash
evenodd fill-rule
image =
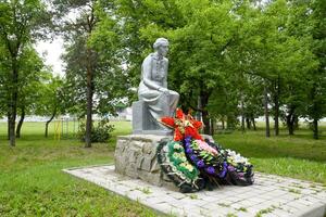
<path id="1" fill-rule="evenodd" d="M 158 146 L 158 161 L 181 192 L 220 184 L 253 183 L 252 165 L 248 158 L 204 141 L 199 133 L 202 123 L 190 114 L 177 108 L 176 117 L 163 117 L 161 123 L 174 129 L 174 140 Z"/>

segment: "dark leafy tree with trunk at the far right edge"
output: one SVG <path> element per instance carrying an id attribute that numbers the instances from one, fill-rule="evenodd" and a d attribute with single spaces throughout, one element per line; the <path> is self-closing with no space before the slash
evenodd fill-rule
<path id="1" fill-rule="evenodd" d="M 288 120 L 294 120 L 298 115 L 309 117 L 313 129 L 313 137 L 318 138 L 318 120 L 326 114 L 326 82 L 325 82 L 325 52 L 326 52 L 326 4 L 324 1 L 289 1 L 291 9 L 288 33 L 300 39 L 304 48 L 309 48 L 306 60 L 298 60 L 310 67 L 299 69 L 291 89 L 296 94 L 288 106 Z M 300 47 L 297 47 L 302 51 Z M 296 86 L 294 86 L 296 85 Z M 293 113 L 294 112 L 294 113 Z M 290 115 L 291 113 L 294 114 Z M 290 118 L 292 116 L 292 118 Z M 289 123 L 291 124 L 291 123 Z M 292 126 L 291 126 L 292 127 Z"/>

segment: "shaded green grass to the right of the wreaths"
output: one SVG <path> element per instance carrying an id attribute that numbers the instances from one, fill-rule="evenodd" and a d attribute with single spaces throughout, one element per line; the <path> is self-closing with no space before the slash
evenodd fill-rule
<path id="1" fill-rule="evenodd" d="M 323 128 L 325 131 L 325 127 Z M 311 180 L 326 186 L 326 138 L 312 139 L 310 130 L 296 136 L 281 131 L 279 137 L 265 138 L 264 131 L 235 131 L 214 137 L 222 146 L 250 157 L 258 171 Z"/>

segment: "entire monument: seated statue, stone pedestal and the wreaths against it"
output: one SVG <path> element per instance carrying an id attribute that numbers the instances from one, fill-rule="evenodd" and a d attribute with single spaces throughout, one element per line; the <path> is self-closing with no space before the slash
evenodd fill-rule
<path id="1" fill-rule="evenodd" d="M 200 135 L 203 124 L 176 108 L 179 94 L 167 89 L 168 41 L 159 38 L 153 48 L 141 65 L 133 135 L 117 138 L 115 171 L 185 193 L 252 184 L 249 159 Z"/>

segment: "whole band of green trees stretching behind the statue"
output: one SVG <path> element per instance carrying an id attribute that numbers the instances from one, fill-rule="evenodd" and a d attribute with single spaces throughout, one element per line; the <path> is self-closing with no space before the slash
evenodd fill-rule
<path id="1" fill-rule="evenodd" d="M 323 0 L 7 0 L 0 14 L 0 114 L 12 145 L 17 113 L 48 115 L 48 124 L 66 113 L 86 115 L 90 146 L 92 115 L 136 99 L 141 62 L 158 37 L 171 42 L 168 86 L 205 133 L 216 120 L 255 129 L 265 116 L 268 137 L 272 116 L 276 136 L 280 122 L 293 135 L 305 117 L 318 138 L 326 116 Z M 50 76 L 33 49 L 47 30 L 64 36 L 63 79 Z"/>

